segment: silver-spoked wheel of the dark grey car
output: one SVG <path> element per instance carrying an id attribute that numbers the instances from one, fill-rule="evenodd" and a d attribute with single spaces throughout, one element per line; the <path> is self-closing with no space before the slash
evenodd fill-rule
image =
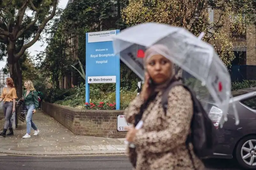
<path id="1" fill-rule="evenodd" d="M 241 139 L 236 147 L 236 159 L 245 169 L 256 169 L 256 135 Z"/>

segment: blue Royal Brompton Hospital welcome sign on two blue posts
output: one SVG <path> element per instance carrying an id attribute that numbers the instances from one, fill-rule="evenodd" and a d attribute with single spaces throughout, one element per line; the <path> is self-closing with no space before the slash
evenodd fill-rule
<path id="1" fill-rule="evenodd" d="M 86 33 L 85 102 L 91 83 L 116 83 L 116 110 L 120 110 L 120 58 L 114 54 L 113 37 L 119 30 Z"/>

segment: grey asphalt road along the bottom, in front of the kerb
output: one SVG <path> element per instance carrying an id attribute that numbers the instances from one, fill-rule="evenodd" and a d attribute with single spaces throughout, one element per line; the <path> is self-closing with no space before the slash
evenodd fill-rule
<path id="1" fill-rule="evenodd" d="M 0 154 L 1 170 L 131 170 L 123 155 L 79 157 L 31 157 Z M 207 161 L 207 170 L 240 170 L 232 160 Z"/>

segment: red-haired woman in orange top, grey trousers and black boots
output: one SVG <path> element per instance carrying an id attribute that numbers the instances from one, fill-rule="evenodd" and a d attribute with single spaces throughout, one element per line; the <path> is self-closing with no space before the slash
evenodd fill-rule
<path id="1" fill-rule="evenodd" d="M 16 89 L 14 88 L 14 83 L 12 78 L 6 79 L 6 85 L 7 88 L 4 88 L 2 91 L 2 95 L 0 97 L 0 102 L 4 100 L 3 104 L 3 110 L 4 110 L 4 116 L 5 116 L 5 122 L 4 122 L 4 130 L 2 133 L 0 133 L 1 136 L 6 137 L 13 135 L 13 129 L 12 129 L 12 113 L 15 112 L 15 102 L 17 97 Z M 9 127 L 10 133 L 6 134 L 7 128 Z"/>

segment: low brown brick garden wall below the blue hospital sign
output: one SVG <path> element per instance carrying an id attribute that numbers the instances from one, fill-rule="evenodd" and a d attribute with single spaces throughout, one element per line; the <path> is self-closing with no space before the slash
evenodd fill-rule
<path id="1" fill-rule="evenodd" d="M 42 110 L 76 135 L 124 138 L 126 131 L 117 131 L 117 115 L 123 110 L 80 110 L 42 102 Z"/>

